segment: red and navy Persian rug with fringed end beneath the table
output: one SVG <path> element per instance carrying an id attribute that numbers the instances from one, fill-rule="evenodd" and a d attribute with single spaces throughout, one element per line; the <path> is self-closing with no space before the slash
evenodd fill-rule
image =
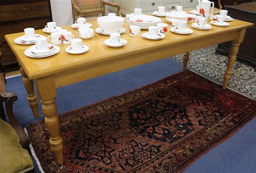
<path id="1" fill-rule="evenodd" d="M 176 173 L 255 115 L 255 100 L 187 70 L 59 115 L 63 167 L 44 121 L 27 131 L 46 173 Z"/>

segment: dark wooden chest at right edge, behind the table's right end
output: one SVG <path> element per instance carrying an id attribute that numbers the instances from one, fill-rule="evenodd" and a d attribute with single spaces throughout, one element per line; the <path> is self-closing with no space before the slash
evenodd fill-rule
<path id="1" fill-rule="evenodd" d="M 243 43 L 239 47 L 237 58 L 256 64 L 256 2 L 243 3 L 236 6 L 226 6 L 228 15 L 234 19 L 248 21 L 254 24 L 246 30 Z M 218 53 L 228 53 L 231 46 L 230 42 L 218 45 Z"/>

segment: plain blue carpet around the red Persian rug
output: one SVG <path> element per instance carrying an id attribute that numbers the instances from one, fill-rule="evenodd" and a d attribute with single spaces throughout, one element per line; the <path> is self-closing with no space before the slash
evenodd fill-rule
<path id="1" fill-rule="evenodd" d="M 58 114 L 134 90 L 180 71 L 182 64 L 166 58 L 59 88 L 56 97 Z M 7 91 L 18 95 L 13 112 L 22 127 L 44 118 L 39 109 L 40 118 L 34 119 L 21 77 L 7 79 Z M 36 164 L 34 166 L 39 173 Z M 204 154 L 184 173 L 256 173 L 256 118 L 229 140 Z"/>

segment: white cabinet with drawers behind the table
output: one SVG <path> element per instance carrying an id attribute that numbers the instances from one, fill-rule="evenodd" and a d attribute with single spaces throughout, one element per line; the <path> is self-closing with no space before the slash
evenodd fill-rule
<path id="1" fill-rule="evenodd" d="M 157 10 L 157 6 L 165 6 L 165 10 L 170 12 L 176 6 L 183 6 L 183 9 L 195 9 L 198 0 L 113 0 L 121 6 L 121 14 L 134 13 L 134 8 L 142 8 L 142 13 L 152 13 Z"/>

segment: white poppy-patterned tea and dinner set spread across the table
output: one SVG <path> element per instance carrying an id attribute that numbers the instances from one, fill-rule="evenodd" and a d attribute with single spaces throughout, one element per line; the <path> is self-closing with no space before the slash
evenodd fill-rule
<path id="1" fill-rule="evenodd" d="M 129 23 L 130 36 L 138 36 L 142 29 L 148 30 L 141 34 L 141 37 L 150 40 L 159 40 L 166 37 L 168 32 L 168 24 L 162 23 L 162 19 L 158 17 L 165 17 L 170 22 L 170 32 L 176 34 L 191 34 L 193 30 L 187 27 L 190 21 L 196 21 L 191 26 L 198 30 L 209 30 L 211 26 L 207 24 L 209 17 L 213 13 L 213 8 L 210 11 L 211 4 L 209 0 L 198 0 L 199 5 L 196 10 L 190 11 L 190 14 L 182 11 L 182 6 L 176 6 L 176 10 L 170 13 L 165 11 L 164 6 L 158 6 L 157 11 L 153 12 L 154 16 L 142 14 L 141 8 L 135 8 L 134 13 L 126 15 L 126 21 Z M 229 21 L 233 19 L 227 15 L 227 10 L 220 10 L 220 14 L 213 17 L 210 24 L 215 26 L 229 26 Z M 158 17 L 155 17 L 158 16 Z M 213 15 L 212 15 L 213 16 Z M 98 28 L 95 32 L 102 35 L 109 35 L 109 39 L 104 41 L 104 44 L 109 47 L 122 47 L 127 44 L 127 40 L 121 38 L 121 33 L 126 32 L 123 28 L 124 18 L 116 16 L 115 13 L 108 13 L 108 16 L 101 16 L 97 18 Z M 24 53 L 31 58 L 44 58 L 55 55 L 60 51 L 57 45 L 71 44 L 65 51 L 70 54 L 81 54 L 87 52 L 89 47 L 82 44 L 82 39 L 90 39 L 94 37 L 94 30 L 90 28 L 92 25 L 86 23 L 85 18 L 78 18 L 72 28 L 78 29 L 77 33 L 80 38 L 74 38 L 72 32 L 56 26 L 56 22 L 48 22 L 43 32 L 50 33 L 48 37 L 40 34 L 35 34 L 34 28 L 24 29 L 25 35 L 16 38 L 14 42 L 20 45 L 32 45 Z M 49 44 L 50 42 L 51 44 Z"/>

